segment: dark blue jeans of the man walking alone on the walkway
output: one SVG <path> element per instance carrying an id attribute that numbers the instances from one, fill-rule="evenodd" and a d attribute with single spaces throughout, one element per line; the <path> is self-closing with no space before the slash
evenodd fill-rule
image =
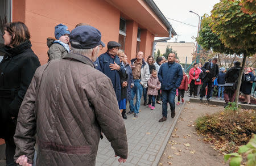
<path id="1" fill-rule="evenodd" d="M 163 95 L 163 104 L 162 104 L 162 114 L 163 117 L 167 117 L 167 103 L 171 106 L 171 111 L 175 111 L 175 95 L 176 88 L 172 88 L 171 90 L 162 90 Z"/>

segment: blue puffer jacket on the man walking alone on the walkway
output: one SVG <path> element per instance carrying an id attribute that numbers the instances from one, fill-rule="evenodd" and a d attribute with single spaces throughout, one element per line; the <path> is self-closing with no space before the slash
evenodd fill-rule
<path id="1" fill-rule="evenodd" d="M 179 63 L 163 63 L 158 71 L 158 79 L 162 90 L 178 88 L 183 78 L 183 71 Z"/>

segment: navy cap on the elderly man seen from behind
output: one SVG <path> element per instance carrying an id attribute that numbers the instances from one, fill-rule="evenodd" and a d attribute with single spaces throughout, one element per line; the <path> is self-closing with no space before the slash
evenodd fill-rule
<path id="1" fill-rule="evenodd" d="M 77 49 L 90 49 L 98 45 L 105 46 L 104 42 L 101 41 L 101 32 L 89 25 L 82 25 L 73 29 L 69 41 L 71 46 Z"/>

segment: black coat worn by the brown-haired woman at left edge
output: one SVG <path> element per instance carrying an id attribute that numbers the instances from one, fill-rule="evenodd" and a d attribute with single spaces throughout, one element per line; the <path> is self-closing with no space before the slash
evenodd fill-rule
<path id="1" fill-rule="evenodd" d="M 31 79 L 40 66 L 29 40 L 10 48 L 0 49 L 5 53 L 0 63 L 0 137 L 13 137 L 16 118 Z M 11 118 L 14 117 L 14 118 Z"/>

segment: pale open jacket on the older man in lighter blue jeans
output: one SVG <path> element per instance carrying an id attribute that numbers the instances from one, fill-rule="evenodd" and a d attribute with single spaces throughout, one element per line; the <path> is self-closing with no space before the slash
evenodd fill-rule
<path id="1" fill-rule="evenodd" d="M 134 62 L 137 58 L 131 59 L 131 66 L 134 65 Z M 142 66 L 141 66 L 141 84 L 144 88 L 147 88 L 147 81 L 150 79 L 150 71 L 147 62 L 142 59 Z"/>

